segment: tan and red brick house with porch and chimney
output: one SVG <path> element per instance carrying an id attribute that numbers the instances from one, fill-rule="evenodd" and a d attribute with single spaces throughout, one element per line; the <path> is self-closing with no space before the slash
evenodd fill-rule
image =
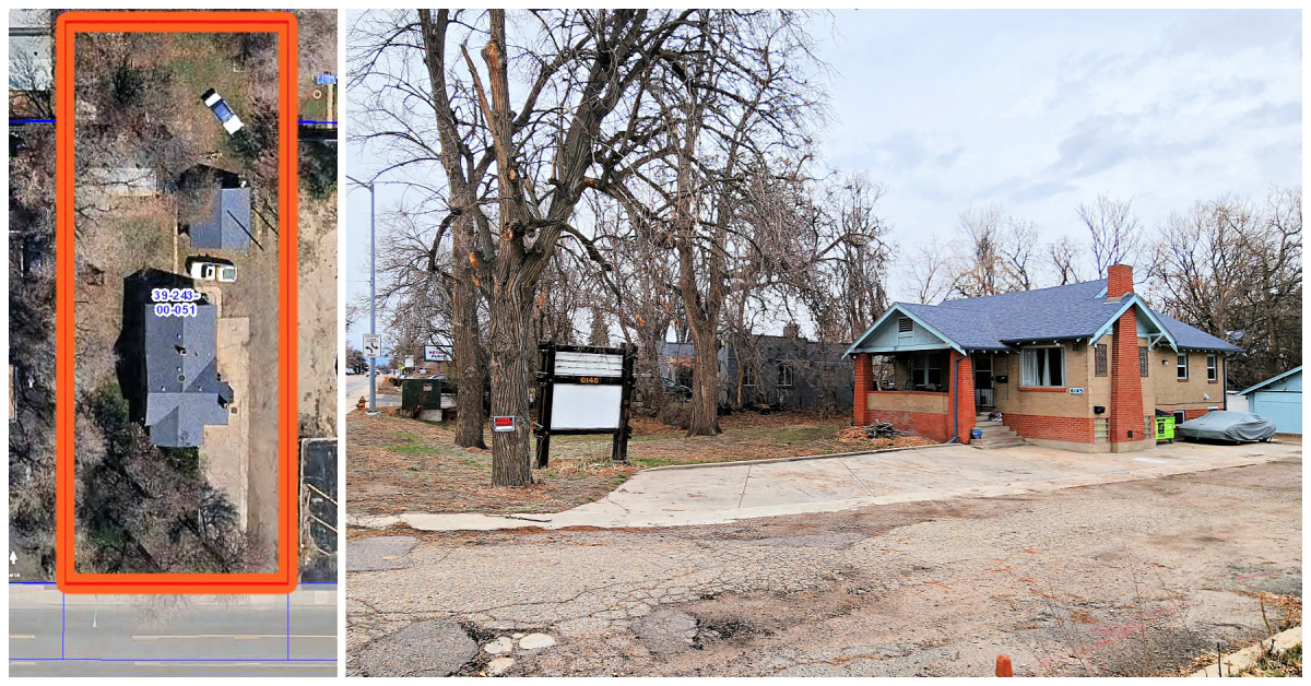
<path id="1" fill-rule="evenodd" d="M 1243 350 L 1155 312 L 1133 270 L 1105 279 L 936 306 L 894 303 L 863 333 L 853 421 L 890 421 L 969 443 L 978 420 L 1086 453 L 1155 445 L 1156 411 L 1176 421 L 1224 407 L 1224 359 Z"/>

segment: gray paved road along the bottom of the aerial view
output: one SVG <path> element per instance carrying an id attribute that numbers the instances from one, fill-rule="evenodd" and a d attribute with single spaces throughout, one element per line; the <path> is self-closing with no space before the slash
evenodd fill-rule
<path id="1" fill-rule="evenodd" d="M 13 676 L 336 673 L 336 586 L 291 595 L 64 595 L 9 588 Z"/>

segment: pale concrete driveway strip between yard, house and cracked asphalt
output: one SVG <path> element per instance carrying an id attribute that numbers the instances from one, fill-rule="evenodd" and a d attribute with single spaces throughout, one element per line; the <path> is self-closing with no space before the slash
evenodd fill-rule
<path id="1" fill-rule="evenodd" d="M 604 500 L 555 514 L 426 514 L 354 517 L 353 526 L 406 523 L 429 531 L 540 526 L 657 527 L 754 517 L 839 512 L 869 505 L 996 497 L 1155 479 L 1301 458 L 1299 443 L 1162 445 L 1088 455 L 1019 446 L 978 450 L 931 446 L 832 458 L 662 467 L 636 474 Z"/>

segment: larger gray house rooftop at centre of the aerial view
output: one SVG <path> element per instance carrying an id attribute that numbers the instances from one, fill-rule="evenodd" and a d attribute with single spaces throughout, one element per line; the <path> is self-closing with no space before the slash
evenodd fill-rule
<path id="1" fill-rule="evenodd" d="M 218 312 L 197 306 L 194 317 L 155 316 L 146 306 L 146 426 L 161 447 L 197 447 L 205 425 L 228 422 L 232 387 L 219 379 Z"/>

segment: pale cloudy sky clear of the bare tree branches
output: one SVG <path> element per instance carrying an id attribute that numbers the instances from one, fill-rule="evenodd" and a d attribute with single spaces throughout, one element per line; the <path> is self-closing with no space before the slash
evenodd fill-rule
<path id="1" fill-rule="evenodd" d="M 947 239 L 971 205 L 1084 239 L 1075 207 L 1099 193 L 1155 228 L 1302 180 L 1298 10 L 859 10 L 815 33 L 835 71 L 826 163 L 886 185 L 903 249 Z M 345 161 L 376 169 L 351 147 Z M 379 211 L 397 195 L 379 186 Z M 347 198 L 353 296 L 368 290 L 368 194 Z"/>

